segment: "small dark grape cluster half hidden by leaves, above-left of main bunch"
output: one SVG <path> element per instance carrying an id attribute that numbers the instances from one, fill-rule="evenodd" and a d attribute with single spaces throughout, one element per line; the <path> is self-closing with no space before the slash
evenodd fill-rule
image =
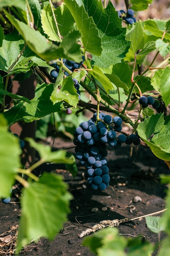
<path id="1" fill-rule="evenodd" d="M 65 65 L 65 67 L 67 67 L 69 70 L 71 70 L 73 72 L 75 69 L 78 69 L 81 67 L 81 65 L 83 64 L 83 62 L 85 60 L 85 57 L 82 56 L 82 59 L 83 59 L 83 61 L 81 61 L 80 63 L 76 63 L 75 61 L 70 61 L 70 60 L 63 58 L 63 63 Z M 61 60 L 61 58 L 60 58 L 60 60 Z M 59 74 L 60 67 L 57 63 L 53 63 L 52 66 L 55 67 L 55 69 L 51 70 L 50 76 L 54 79 L 54 82 L 55 82 L 55 80 L 57 79 L 57 76 Z M 69 75 L 68 72 L 66 72 L 66 71 L 64 71 L 64 74 L 65 74 L 65 76 Z"/>

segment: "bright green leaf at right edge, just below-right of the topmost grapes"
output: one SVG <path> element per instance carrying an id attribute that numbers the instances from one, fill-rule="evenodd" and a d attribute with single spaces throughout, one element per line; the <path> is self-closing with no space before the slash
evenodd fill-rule
<path id="1" fill-rule="evenodd" d="M 144 22 L 144 29 L 150 31 L 154 36 L 161 38 L 164 34 L 164 38 L 170 40 L 170 30 L 168 29 L 168 24 L 166 21 L 163 20 L 156 20 L 155 18 L 145 20 Z M 166 31 L 166 28 L 168 29 Z"/>

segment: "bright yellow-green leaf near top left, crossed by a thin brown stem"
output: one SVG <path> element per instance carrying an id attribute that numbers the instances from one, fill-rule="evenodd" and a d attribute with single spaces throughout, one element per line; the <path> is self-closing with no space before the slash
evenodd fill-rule
<path id="1" fill-rule="evenodd" d="M 74 30 L 74 18 L 65 4 L 61 4 L 57 9 L 54 9 L 54 14 L 61 36 L 66 36 L 69 31 Z M 42 10 L 41 23 L 50 40 L 60 41 L 50 4 Z"/>

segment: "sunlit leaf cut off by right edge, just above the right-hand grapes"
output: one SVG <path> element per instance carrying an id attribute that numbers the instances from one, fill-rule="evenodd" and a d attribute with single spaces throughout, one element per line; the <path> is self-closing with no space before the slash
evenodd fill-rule
<path id="1" fill-rule="evenodd" d="M 170 70 L 166 67 L 163 70 L 158 70 L 152 77 L 151 84 L 154 89 L 161 92 L 162 100 L 165 105 L 170 104 Z"/>

